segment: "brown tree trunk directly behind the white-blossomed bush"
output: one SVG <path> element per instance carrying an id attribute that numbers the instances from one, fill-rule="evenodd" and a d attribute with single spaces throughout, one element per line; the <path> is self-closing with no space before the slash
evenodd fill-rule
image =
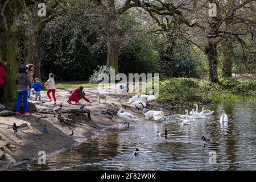
<path id="1" fill-rule="evenodd" d="M 115 75 L 118 74 L 118 56 L 119 52 L 117 49 L 115 49 L 110 43 L 108 43 L 108 60 L 107 60 L 107 66 L 113 67 L 115 69 Z"/>

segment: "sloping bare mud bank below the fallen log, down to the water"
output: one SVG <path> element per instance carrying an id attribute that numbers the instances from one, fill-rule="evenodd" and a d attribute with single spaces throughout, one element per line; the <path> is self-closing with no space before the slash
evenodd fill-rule
<path id="1" fill-rule="evenodd" d="M 101 114 L 101 111 L 109 110 L 113 114 Z M 30 116 L 13 115 L 0 117 L 0 167 L 3 169 L 18 162 L 26 162 L 38 155 L 39 151 L 45 151 L 47 155 L 82 142 L 86 138 L 102 131 L 102 129 L 123 123 L 117 118 L 118 109 L 112 104 L 91 109 L 90 118 L 87 114 L 77 113 L 62 115 L 64 121 L 59 121 L 53 114 L 32 113 Z M 110 119 L 111 118 L 111 119 Z M 14 134 L 11 126 L 23 125 Z M 48 132 L 43 131 L 43 125 L 47 125 Z M 73 137 L 69 136 L 73 130 Z"/>

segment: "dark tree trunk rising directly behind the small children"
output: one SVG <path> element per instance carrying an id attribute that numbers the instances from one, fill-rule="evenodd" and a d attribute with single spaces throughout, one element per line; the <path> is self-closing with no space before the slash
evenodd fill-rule
<path id="1" fill-rule="evenodd" d="M 43 27 L 44 28 L 44 27 Z M 42 58 L 42 34 L 43 28 L 39 27 L 28 36 L 28 56 L 27 64 L 35 65 L 33 78 L 41 80 L 41 58 Z"/>

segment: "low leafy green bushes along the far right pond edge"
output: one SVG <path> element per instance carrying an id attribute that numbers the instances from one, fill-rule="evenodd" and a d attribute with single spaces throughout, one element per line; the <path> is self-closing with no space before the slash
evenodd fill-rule
<path id="1" fill-rule="evenodd" d="M 221 78 L 218 84 L 196 78 L 168 78 L 159 81 L 158 104 L 189 105 L 221 101 L 255 101 L 256 80 Z"/>

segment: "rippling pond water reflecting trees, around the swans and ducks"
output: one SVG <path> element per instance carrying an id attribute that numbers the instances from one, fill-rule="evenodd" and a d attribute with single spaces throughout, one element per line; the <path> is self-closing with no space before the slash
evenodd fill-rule
<path id="1" fill-rule="evenodd" d="M 33 161 L 10 170 L 256 170 L 255 103 L 224 102 L 205 107 L 215 110 L 213 115 L 188 126 L 181 127 L 178 115 L 161 123 L 138 121 L 48 156 L 46 165 Z M 228 114 L 228 125 L 219 121 L 221 109 Z M 184 108 L 172 111 L 183 114 Z M 157 131 L 165 128 L 168 136 L 158 137 Z M 203 135 L 213 143 L 204 146 Z M 136 156 L 135 148 L 139 148 Z M 216 152 L 216 164 L 209 164 L 210 151 Z"/>

